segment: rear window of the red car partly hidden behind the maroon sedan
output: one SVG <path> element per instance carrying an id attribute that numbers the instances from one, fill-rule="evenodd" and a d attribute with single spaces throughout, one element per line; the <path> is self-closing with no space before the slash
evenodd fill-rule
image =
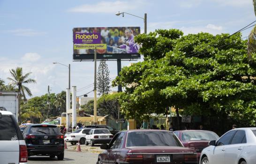
<path id="1" fill-rule="evenodd" d="M 218 135 L 214 132 L 206 132 L 206 131 L 191 131 L 191 132 L 183 132 L 181 134 L 182 141 L 188 140 L 218 140 Z"/>

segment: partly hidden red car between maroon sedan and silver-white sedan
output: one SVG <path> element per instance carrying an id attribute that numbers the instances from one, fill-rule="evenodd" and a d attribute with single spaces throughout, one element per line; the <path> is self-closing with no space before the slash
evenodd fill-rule
<path id="1" fill-rule="evenodd" d="M 209 146 L 208 143 L 219 138 L 218 134 L 207 130 L 179 130 L 173 133 L 177 135 L 184 147 L 196 150 L 198 161 L 202 150 Z"/>

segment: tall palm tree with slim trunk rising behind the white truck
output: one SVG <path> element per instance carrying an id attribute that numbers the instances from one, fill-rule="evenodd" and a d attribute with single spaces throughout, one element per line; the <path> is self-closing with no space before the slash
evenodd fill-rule
<path id="1" fill-rule="evenodd" d="M 21 122 L 21 111 L 20 111 L 20 102 L 21 97 L 23 97 L 24 101 L 26 101 L 26 94 L 29 96 L 32 96 L 31 91 L 28 87 L 24 86 L 25 83 L 36 83 L 36 80 L 30 79 L 29 75 L 30 73 L 27 73 L 23 75 L 23 69 L 22 67 L 16 67 L 16 69 L 11 69 L 10 73 L 12 75 L 12 78 L 8 77 L 8 80 L 11 81 L 14 85 L 18 87 L 18 98 L 19 98 L 19 123 Z"/>

